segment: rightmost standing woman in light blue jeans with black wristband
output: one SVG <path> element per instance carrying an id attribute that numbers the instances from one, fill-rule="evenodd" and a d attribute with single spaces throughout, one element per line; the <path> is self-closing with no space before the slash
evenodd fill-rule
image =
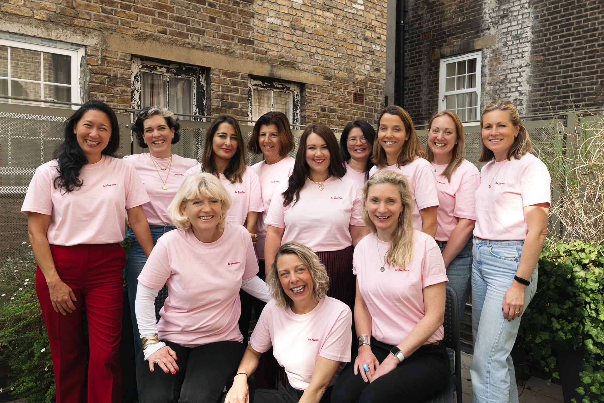
<path id="1" fill-rule="evenodd" d="M 495 100 L 480 117 L 483 139 L 472 262 L 472 401 L 518 402 L 512 362 L 522 312 L 535 295 L 547 235 L 550 174 L 518 111 Z"/>

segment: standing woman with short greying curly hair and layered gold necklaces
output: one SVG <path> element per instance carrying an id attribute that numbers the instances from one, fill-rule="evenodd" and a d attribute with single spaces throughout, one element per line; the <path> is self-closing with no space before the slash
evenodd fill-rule
<path id="1" fill-rule="evenodd" d="M 149 148 L 149 152 L 124 156 L 124 160 L 134 165 L 143 181 L 145 190 L 147 190 L 147 195 L 151 199 L 150 202 L 143 204 L 143 211 L 149 221 L 153 245 L 164 233 L 176 228 L 168 216 L 168 205 L 184 181 L 185 171 L 199 164 L 197 160 L 172 153 L 172 144 L 176 144 L 181 137 L 180 127 L 181 125 L 170 109 L 159 106 L 148 106 L 141 109 L 132 125 L 132 131 L 137 137 L 138 145 L 143 149 Z M 127 236 L 134 237 L 132 230 L 128 231 Z M 141 344 L 137 318 L 134 314 L 134 301 L 137 296 L 137 277 L 141 274 L 146 262 L 147 257 L 137 240 L 134 239 L 130 245 L 125 272 L 128 281 L 130 312 L 132 313 L 135 356 L 138 356 L 143 344 Z"/>

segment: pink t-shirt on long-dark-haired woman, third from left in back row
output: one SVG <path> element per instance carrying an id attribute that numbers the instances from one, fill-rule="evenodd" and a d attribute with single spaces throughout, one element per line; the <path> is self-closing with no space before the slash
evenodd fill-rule
<path id="1" fill-rule="evenodd" d="M 196 165 L 188 169 L 185 176 L 191 175 L 191 173 L 200 173 L 202 172 L 201 168 L 201 164 Z M 264 211 L 258 174 L 251 167 L 246 167 L 241 183 L 231 183 L 222 173 L 218 174 L 218 178 L 233 198 L 233 204 L 226 213 L 227 222 L 243 225 L 245 219 L 248 218 L 249 211 Z"/>

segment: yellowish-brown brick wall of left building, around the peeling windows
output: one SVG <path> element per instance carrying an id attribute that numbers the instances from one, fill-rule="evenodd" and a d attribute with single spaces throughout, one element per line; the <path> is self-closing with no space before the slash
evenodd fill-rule
<path id="1" fill-rule="evenodd" d="M 373 123 L 386 1 L 0 0 L 11 33 L 85 45 L 85 95 L 130 107 L 132 57 L 207 68 L 206 114 L 248 118 L 250 77 L 301 85 L 301 122 Z M 353 105 L 353 92 L 365 105 Z"/>

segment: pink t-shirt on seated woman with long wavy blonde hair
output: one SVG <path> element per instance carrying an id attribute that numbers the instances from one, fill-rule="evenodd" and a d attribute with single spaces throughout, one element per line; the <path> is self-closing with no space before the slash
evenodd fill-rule
<path id="1" fill-rule="evenodd" d="M 404 269 L 385 264 L 389 247 L 390 242 L 377 239 L 376 233 L 368 234 L 356 245 L 352 271 L 371 314 L 371 335 L 396 346 L 426 315 L 423 289 L 449 280 L 439 246 L 428 234 L 413 231 L 413 257 Z M 444 334 L 440 326 L 425 344 L 442 340 Z"/>

